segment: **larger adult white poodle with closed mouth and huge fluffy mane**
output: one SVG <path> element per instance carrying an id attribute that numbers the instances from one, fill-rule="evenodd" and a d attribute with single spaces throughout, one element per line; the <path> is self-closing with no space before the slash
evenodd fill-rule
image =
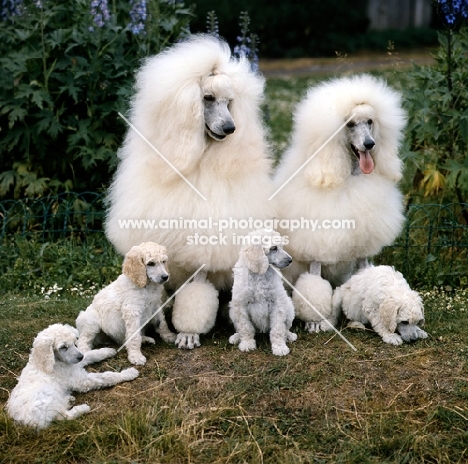
<path id="1" fill-rule="evenodd" d="M 108 193 L 106 234 L 123 254 L 143 241 L 164 244 L 173 290 L 205 265 L 175 298 L 180 348 L 200 344 L 199 334 L 215 323 L 218 290 L 232 286 L 234 239 L 246 233 L 235 221 L 275 215 L 263 88 L 246 59 L 233 59 L 226 43 L 207 35 L 149 58 L 137 75 L 130 120 L 159 153 L 128 130 Z M 154 226 L 126 228 L 129 219 Z"/>

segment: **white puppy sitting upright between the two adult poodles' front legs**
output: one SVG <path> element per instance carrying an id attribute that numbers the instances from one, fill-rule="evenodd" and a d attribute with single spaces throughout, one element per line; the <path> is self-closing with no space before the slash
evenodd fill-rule
<path id="1" fill-rule="evenodd" d="M 269 332 L 273 354 L 284 356 L 289 353 L 286 342 L 297 339 L 289 331 L 294 307 L 274 268 L 284 269 L 292 259 L 283 250 L 278 232 L 258 230 L 246 239 L 234 267 L 229 315 L 236 333 L 229 342 L 238 344 L 241 351 L 252 351 L 256 348 L 255 333 Z"/>

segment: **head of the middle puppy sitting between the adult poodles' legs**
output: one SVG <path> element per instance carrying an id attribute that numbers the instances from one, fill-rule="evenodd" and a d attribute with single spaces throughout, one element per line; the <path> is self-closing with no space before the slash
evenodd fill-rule
<path id="1" fill-rule="evenodd" d="M 283 269 L 292 262 L 291 256 L 283 250 L 281 235 L 273 230 L 258 230 L 248 236 L 248 244 L 241 250 L 247 268 L 255 274 L 265 274 L 268 266 Z"/>

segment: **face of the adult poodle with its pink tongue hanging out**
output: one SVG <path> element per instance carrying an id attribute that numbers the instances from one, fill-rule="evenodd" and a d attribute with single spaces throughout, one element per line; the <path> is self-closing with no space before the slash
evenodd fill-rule
<path id="1" fill-rule="evenodd" d="M 354 116 L 346 124 L 346 143 L 352 159 L 353 172 L 359 167 L 363 174 L 370 174 L 375 166 L 372 152 L 376 146 L 375 110 L 363 103 L 355 106 L 351 114 Z"/>

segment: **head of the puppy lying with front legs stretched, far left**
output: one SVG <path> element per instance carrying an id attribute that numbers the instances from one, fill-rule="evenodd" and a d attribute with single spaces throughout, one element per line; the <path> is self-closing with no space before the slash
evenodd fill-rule
<path id="1" fill-rule="evenodd" d="M 54 370 L 56 362 L 77 364 L 83 353 L 75 346 L 78 331 L 63 324 L 53 324 L 40 332 L 34 339 L 30 362 L 47 374 Z"/>

